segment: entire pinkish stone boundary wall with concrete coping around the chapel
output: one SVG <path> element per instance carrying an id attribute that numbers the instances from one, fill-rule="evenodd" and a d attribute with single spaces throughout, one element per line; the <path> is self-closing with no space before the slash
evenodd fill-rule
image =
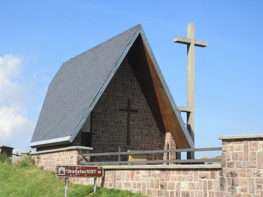
<path id="1" fill-rule="evenodd" d="M 104 177 L 98 179 L 98 186 L 140 191 L 149 196 L 263 197 L 263 134 L 218 139 L 222 140 L 222 165 L 103 166 Z M 90 150 L 92 148 L 68 147 L 30 155 L 37 165 L 54 171 L 58 164 L 79 165 L 80 154 Z M 94 184 L 93 178 L 69 180 L 76 184 Z"/>

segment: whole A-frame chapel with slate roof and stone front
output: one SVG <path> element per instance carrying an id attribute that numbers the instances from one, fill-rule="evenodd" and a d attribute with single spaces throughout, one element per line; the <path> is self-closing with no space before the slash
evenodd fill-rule
<path id="1" fill-rule="evenodd" d="M 62 64 L 49 84 L 30 147 L 84 146 L 105 153 L 118 147 L 159 150 L 166 143 L 194 148 L 139 24 Z"/>

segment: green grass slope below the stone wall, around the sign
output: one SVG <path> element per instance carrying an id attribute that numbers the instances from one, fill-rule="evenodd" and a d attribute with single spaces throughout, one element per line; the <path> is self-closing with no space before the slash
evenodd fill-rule
<path id="1" fill-rule="evenodd" d="M 0 196 L 64 196 L 65 179 L 57 178 L 54 172 L 37 168 L 34 160 L 28 156 L 25 160 L 10 163 L 5 155 L 0 155 Z M 98 188 L 93 192 L 93 186 L 68 184 L 68 196 L 100 197 L 100 196 L 136 196 L 140 193 L 122 191 L 118 189 Z"/>

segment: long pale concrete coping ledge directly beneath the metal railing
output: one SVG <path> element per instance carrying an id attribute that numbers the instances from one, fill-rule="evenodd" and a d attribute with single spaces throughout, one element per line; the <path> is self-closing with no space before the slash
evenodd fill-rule
<path id="1" fill-rule="evenodd" d="M 104 169 L 219 169 L 221 164 L 194 165 L 105 165 Z"/>

